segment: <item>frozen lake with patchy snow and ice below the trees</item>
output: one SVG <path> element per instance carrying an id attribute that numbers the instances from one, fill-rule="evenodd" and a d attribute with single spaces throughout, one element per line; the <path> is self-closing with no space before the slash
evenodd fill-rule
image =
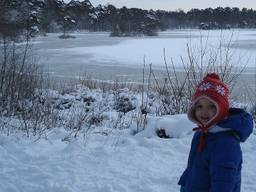
<path id="1" fill-rule="evenodd" d="M 152 64 L 156 71 L 164 69 L 163 49 L 167 63 L 173 60 L 182 68 L 180 57 L 187 60 L 187 44 L 192 47 L 207 42 L 207 47 L 217 49 L 219 42 L 229 43 L 234 61 L 241 57 L 247 64 L 243 82 L 255 87 L 256 30 L 173 30 L 159 33 L 157 37 L 109 37 L 109 33 L 73 33 L 74 39 L 59 39 L 60 34 L 47 34 L 33 42 L 40 64 L 55 77 L 77 77 L 138 82 L 142 68 Z M 237 58 L 236 58 L 237 57 Z M 246 78 L 245 78 L 246 77 Z"/>

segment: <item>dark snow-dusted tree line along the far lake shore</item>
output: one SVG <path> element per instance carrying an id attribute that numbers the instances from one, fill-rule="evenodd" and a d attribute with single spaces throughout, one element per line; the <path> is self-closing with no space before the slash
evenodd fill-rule
<path id="1" fill-rule="evenodd" d="M 110 31 L 113 36 L 156 35 L 173 28 L 255 28 L 256 11 L 237 7 L 191 9 L 184 12 L 94 7 L 89 0 L 4 0 L 0 2 L 0 33 L 16 36 L 69 30 Z"/>

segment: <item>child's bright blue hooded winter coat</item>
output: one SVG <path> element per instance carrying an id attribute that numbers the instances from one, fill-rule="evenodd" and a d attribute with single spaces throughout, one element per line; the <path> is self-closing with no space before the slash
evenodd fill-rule
<path id="1" fill-rule="evenodd" d="M 240 192 L 244 142 L 253 130 L 253 119 L 242 109 L 230 109 L 230 116 L 206 133 L 203 151 L 198 151 L 200 132 L 194 134 L 188 166 L 179 185 L 186 192 Z"/>

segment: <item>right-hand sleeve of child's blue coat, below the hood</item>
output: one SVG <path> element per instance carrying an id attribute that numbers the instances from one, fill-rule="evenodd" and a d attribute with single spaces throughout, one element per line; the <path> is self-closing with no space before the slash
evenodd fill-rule
<path id="1" fill-rule="evenodd" d="M 210 192 L 240 191 L 242 153 L 232 136 L 218 140 L 210 162 Z"/>

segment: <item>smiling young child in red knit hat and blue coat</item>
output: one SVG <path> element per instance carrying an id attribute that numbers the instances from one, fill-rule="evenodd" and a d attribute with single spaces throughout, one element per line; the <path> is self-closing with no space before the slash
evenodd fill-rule
<path id="1" fill-rule="evenodd" d="M 197 86 L 188 118 L 198 125 L 188 165 L 178 184 L 181 192 L 240 192 L 242 151 L 253 129 L 243 109 L 229 108 L 229 90 L 215 73 Z"/>

